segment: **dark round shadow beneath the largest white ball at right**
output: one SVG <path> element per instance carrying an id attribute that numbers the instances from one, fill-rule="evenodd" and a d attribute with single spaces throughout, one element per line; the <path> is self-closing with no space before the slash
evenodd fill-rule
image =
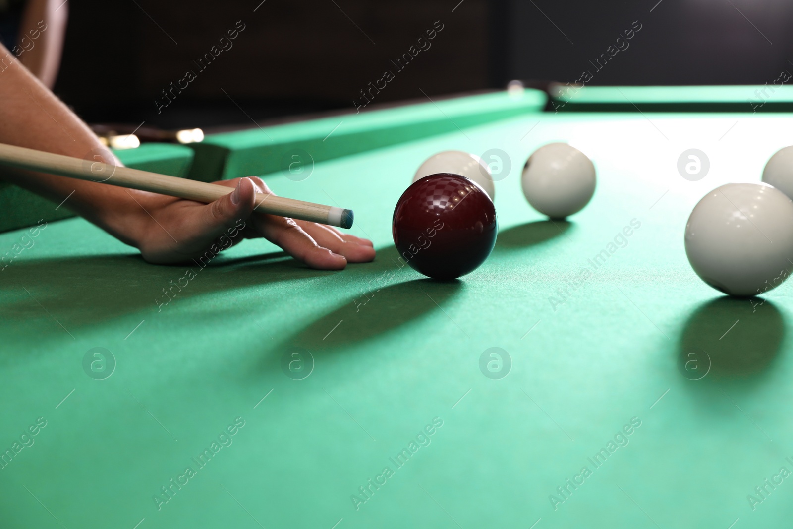
<path id="1" fill-rule="evenodd" d="M 692 381 L 756 378 L 779 355 L 783 315 L 771 301 L 718 297 L 700 305 L 680 335 L 678 370 Z"/>

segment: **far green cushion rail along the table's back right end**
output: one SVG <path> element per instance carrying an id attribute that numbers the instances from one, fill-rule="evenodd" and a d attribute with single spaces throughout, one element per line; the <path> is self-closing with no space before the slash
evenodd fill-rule
<path id="1" fill-rule="evenodd" d="M 564 112 L 791 112 L 790 75 L 766 85 L 584 86 L 550 90 L 554 109 Z"/>

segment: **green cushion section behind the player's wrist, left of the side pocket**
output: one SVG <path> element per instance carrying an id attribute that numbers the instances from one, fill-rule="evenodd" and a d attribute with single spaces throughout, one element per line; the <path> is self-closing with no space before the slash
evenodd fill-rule
<path id="1" fill-rule="evenodd" d="M 183 145 L 143 144 L 136 149 L 115 151 L 127 167 L 185 176 L 193 161 L 193 150 Z M 39 220 L 51 221 L 74 217 L 63 206 L 48 201 L 28 190 L 0 182 L 0 232 L 33 226 Z"/>

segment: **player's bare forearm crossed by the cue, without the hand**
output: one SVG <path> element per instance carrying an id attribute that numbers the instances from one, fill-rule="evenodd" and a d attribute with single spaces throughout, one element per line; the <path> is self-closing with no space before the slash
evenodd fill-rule
<path id="1" fill-rule="evenodd" d="M 6 53 L 0 44 L 0 56 Z M 90 128 L 18 61 L 0 71 L 0 143 L 81 159 L 90 159 L 97 150 L 108 152 Z M 108 161 L 120 164 L 116 159 Z M 124 220 L 140 213 L 140 206 L 130 195 L 136 192 L 7 167 L 0 167 L 0 178 L 56 203 L 71 194 L 69 209 L 134 244 Z"/>

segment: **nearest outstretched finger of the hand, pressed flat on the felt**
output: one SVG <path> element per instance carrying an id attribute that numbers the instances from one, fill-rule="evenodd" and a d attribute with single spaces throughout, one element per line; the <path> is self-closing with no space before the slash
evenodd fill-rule
<path id="1" fill-rule="evenodd" d="M 257 215 L 255 218 L 255 226 L 262 236 L 278 244 L 298 261 L 317 270 L 342 270 L 347 266 L 343 255 L 321 247 L 294 220 L 274 215 Z"/>

